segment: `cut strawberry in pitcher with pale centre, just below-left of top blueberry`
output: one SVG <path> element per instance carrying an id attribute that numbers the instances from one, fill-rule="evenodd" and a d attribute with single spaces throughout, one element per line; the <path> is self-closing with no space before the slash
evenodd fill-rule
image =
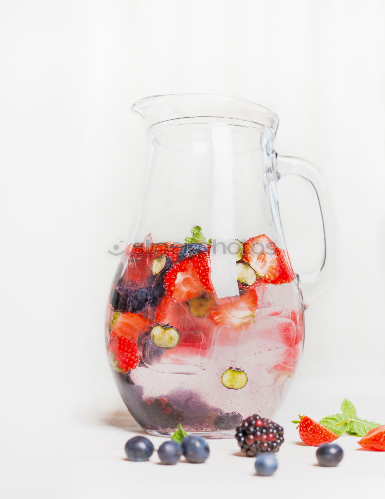
<path id="1" fill-rule="evenodd" d="M 204 292 L 198 274 L 190 259 L 174 265 L 164 276 L 168 296 L 176 303 L 196 298 Z"/>

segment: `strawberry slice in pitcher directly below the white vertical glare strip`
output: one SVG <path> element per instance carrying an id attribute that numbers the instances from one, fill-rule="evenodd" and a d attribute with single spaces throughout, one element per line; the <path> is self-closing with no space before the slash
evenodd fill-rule
<path id="1" fill-rule="evenodd" d="M 247 325 L 254 319 L 257 305 L 257 292 L 255 289 L 249 289 L 240 297 L 230 298 L 223 305 L 217 305 L 210 313 L 210 318 L 228 326 Z"/>

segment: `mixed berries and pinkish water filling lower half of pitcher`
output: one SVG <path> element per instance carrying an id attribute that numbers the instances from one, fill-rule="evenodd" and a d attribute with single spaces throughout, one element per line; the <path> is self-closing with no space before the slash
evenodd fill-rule
<path id="1" fill-rule="evenodd" d="M 236 240 L 238 295 L 218 298 L 199 226 L 181 243 L 130 244 L 114 283 L 107 351 L 119 392 L 148 432 L 232 436 L 271 417 L 302 351 L 303 310 L 288 254 L 266 235 Z"/>

